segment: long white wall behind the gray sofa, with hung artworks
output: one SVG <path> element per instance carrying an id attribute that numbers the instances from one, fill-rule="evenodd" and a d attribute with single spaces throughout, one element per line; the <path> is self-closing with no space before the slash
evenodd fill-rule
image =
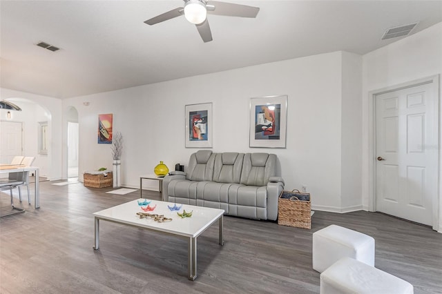
<path id="1" fill-rule="evenodd" d="M 343 62 L 346 68 L 355 66 L 353 55 L 332 52 L 66 99 L 64 108 L 73 106 L 79 113 L 80 177 L 84 171 L 112 167 L 110 146 L 97 144 L 97 115 L 113 113 L 113 131 L 124 136 L 122 184 L 137 188 L 140 175 L 153 173 L 160 160 L 171 170 L 176 163 L 188 163 L 196 149 L 184 148 L 184 106 L 213 102 L 213 152 L 276 153 L 286 189 L 304 184 L 313 206 L 343 211 L 341 140 L 360 135 L 346 128 L 341 137 L 341 125 L 358 117 L 351 114 L 358 103 L 342 105 Z M 354 98 L 355 88 L 361 93 L 356 84 L 345 90 L 346 101 Z M 287 148 L 249 148 L 250 98 L 268 95 L 288 95 Z M 360 175 L 345 173 L 345 183 L 351 182 L 361 182 Z M 145 188 L 155 189 L 157 183 L 146 182 Z M 361 206 L 358 184 L 345 193 L 345 204 Z"/>

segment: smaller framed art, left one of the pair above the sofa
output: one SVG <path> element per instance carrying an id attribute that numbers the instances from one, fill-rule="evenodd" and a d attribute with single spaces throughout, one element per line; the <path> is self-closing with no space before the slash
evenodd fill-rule
<path id="1" fill-rule="evenodd" d="M 186 105 L 186 148 L 212 148 L 212 104 Z"/>

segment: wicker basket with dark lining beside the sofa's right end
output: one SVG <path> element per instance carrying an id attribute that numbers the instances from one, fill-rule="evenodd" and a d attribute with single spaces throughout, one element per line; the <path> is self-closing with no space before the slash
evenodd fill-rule
<path id="1" fill-rule="evenodd" d="M 278 199 L 278 224 L 311 228 L 310 194 L 296 189 L 282 191 Z"/>

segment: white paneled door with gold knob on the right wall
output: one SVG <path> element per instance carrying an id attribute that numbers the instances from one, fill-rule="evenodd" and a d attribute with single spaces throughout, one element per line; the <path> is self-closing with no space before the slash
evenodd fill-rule
<path id="1" fill-rule="evenodd" d="M 431 84 L 376 95 L 376 210 L 432 225 L 438 101 Z"/>

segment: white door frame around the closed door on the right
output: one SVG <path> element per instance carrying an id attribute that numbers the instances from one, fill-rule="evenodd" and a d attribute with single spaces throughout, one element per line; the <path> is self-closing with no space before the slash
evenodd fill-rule
<path id="1" fill-rule="evenodd" d="M 432 197 L 432 204 L 433 204 L 433 215 L 432 215 L 432 228 L 434 231 L 442 230 L 442 228 L 439 228 L 439 219 L 441 218 L 442 211 L 439 210 L 439 207 L 441 206 L 442 199 L 441 199 L 441 188 L 442 188 L 442 162 L 441 162 L 441 105 L 439 104 L 439 100 L 441 99 L 441 95 L 439 93 L 439 79 L 440 75 L 434 75 L 431 77 L 425 77 L 423 79 L 417 79 L 414 81 L 408 81 L 403 84 L 398 84 L 395 86 L 389 86 L 386 88 L 381 88 L 378 90 L 373 90 L 369 92 L 369 101 L 368 101 L 368 107 L 369 107 L 369 115 L 368 115 L 368 126 L 369 126 L 369 134 L 368 134 L 368 177 L 369 177 L 369 185 L 368 185 L 368 210 L 369 211 L 376 211 L 376 96 L 384 94 L 386 92 L 393 92 L 396 90 L 402 90 L 405 88 L 412 88 L 414 86 L 420 86 L 423 84 L 432 84 L 432 91 L 434 92 L 434 111 L 436 112 L 436 116 L 434 119 L 434 135 L 437 138 L 438 146 L 435 146 L 438 150 L 437 152 L 437 193 L 436 195 L 433 195 Z M 442 233 L 442 232 L 441 232 Z"/>

